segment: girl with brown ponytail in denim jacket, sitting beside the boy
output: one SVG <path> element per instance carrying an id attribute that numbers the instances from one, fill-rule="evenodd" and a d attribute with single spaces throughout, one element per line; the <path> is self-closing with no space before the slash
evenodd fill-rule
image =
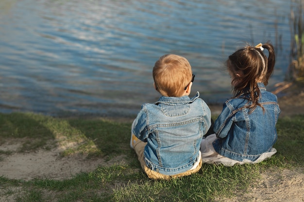
<path id="1" fill-rule="evenodd" d="M 263 50 L 269 52 L 268 58 Z M 205 163 L 258 163 L 276 153 L 275 124 L 280 113 L 277 97 L 266 91 L 275 63 L 269 43 L 246 46 L 226 61 L 234 96 L 227 100 L 215 121 L 215 134 L 201 143 Z"/>

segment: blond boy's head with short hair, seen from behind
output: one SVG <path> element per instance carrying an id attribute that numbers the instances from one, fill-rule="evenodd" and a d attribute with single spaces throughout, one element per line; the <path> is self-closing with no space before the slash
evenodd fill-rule
<path id="1" fill-rule="evenodd" d="M 181 97 L 192 79 L 190 63 L 182 56 L 163 55 L 154 64 L 153 79 L 156 90 L 162 95 Z"/>

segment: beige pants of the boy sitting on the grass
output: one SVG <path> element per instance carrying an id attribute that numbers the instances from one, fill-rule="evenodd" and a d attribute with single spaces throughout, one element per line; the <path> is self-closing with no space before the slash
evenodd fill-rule
<path id="1" fill-rule="evenodd" d="M 195 169 L 190 170 L 190 171 L 185 171 L 185 172 L 182 172 L 182 173 L 179 173 L 179 174 L 176 174 L 176 175 L 164 175 L 164 174 L 161 174 L 159 172 L 152 171 L 151 169 L 149 169 L 146 166 L 146 162 L 144 160 L 144 150 L 145 150 L 146 144 L 147 144 L 147 142 L 143 142 L 143 141 L 140 141 L 140 140 L 137 139 L 135 141 L 133 147 L 134 147 L 135 153 L 136 153 L 136 155 L 138 157 L 138 160 L 140 162 L 141 168 L 145 171 L 145 173 L 151 179 L 165 179 L 165 180 L 169 180 L 171 178 L 177 178 L 177 177 L 182 177 L 182 176 L 190 175 L 192 173 L 198 172 L 202 168 L 202 159 L 201 159 L 199 165 Z"/>

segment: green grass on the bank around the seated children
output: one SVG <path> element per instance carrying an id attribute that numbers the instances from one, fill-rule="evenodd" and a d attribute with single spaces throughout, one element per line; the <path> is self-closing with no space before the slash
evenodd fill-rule
<path id="1" fill-rule="evenodd" d="M 304 166 L 304 115 L 280 118 L 277 154 L 259 164 L 224 167 L 203 164 L 198 173 L 178 179 L 151 180 L 129 148 L 131 123 L 102 119 L 52 118 L 32 113 L 0 114 L 0 145 L 22 140 L 18 152 L 53 147 L 61 155 L 85 154 L 107 160 L 124 155 L 126 163 L 100 166 L 70 179 L 15 180 L 0 176 L 0 201 L 16 202 L 174 202 L 215 201 L 254 186 L 267 170 Z M 1 148 L 1 147 L 0 147 Z M 0 161 L 10 151 L 0 149 Z"/>

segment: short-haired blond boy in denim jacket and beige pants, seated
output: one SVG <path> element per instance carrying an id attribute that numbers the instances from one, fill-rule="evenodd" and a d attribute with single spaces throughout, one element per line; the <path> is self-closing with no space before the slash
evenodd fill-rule
<path id="1" fill-rule="evenodd" d="M 186 58 L 168 54 L 153 67 L 154 88 L 162 96 L 144 104 L 132 124 L 130 146 L 152 179 L 190 175 L 202 167 L 200 144 L 211 125 L 211 112 L 189 98 L 194 75 Z"/>

